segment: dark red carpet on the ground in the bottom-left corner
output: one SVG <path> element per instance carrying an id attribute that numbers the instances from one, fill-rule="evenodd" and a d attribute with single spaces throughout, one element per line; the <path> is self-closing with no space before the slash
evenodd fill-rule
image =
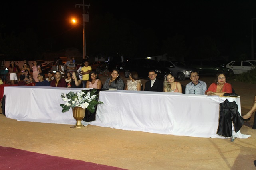
<path id="1" fill-rule="evenodd" d="M 94 164 L 0 146 L 0 170 L 123 170 L 112 166 Z"/>

